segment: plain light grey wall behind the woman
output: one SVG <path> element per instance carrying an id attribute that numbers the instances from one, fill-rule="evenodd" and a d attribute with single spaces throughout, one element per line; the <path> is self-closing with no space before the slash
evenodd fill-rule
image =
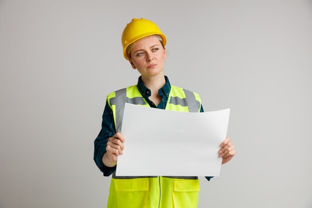
<path id="1" fill-rule="evenodd" d="M 164 73 L 231 108 L 237 155 L 199 208 L 312 208 L 311 0 L 0 0 L 0 208 L 103 208 L 106 96 L 137 83 L 132 18 L 167 37 Z"/>

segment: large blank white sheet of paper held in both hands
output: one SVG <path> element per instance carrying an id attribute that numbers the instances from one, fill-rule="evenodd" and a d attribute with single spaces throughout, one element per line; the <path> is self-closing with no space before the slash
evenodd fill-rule
<path id="1" fill-rule="evenodd" d="M 219 176 L 230 109 L 185 113 L 126 103 L 116 176 Z"/>

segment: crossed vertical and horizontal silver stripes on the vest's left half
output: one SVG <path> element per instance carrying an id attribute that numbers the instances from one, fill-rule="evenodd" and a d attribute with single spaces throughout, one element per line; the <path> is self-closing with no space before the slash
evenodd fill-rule
<path id="1" fill-rule="evenodd" d="M 145 105 L 145 101 L 142 97 L 127 97 L 127 89 L 120 89 L 116 91 L 116 97 L 110 99 L 111 105 L 116 105 L 116 131 L 121 132 L 125 103 L 131 103 L 136 105 Z"/>

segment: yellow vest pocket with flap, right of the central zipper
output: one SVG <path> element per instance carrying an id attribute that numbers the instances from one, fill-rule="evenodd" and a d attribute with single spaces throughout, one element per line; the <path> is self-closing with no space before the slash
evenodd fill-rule
<path id="1" fill-rule="evenodd" d="M 199 180 L 174 180 L 172 188 L 174 208 L 197 208 Z"/>

